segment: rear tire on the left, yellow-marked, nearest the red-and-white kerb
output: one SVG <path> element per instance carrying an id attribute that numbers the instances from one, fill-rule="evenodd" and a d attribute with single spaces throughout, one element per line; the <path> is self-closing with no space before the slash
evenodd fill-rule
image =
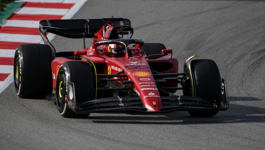
<path id="1" fill-rule="evenodd" d="M 20 45 L 14 57 L 14 84 L 20 98 L 44 98 L 52 93 L 50 46 Z"/>

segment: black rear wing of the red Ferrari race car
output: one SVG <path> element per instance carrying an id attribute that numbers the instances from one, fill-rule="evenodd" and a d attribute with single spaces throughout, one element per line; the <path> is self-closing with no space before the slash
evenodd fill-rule
<path id="1" fill-rule="evenodd" d="M 53 56 L 55 56 L 56 50 L 47 38 L 47 32 L 73 39 L 93 38 L 106 23 L 113 24 L 111 21 L 103 20 L 104 19 L 42 20 L 40 21 L 39 33 L 44 43 L 51 47 Z M 131 26 L 128 19 L 122 18 L 119 18 L 119 21 L 114 21 L 114 25 L 117 28 L 121 25 Z"/>

